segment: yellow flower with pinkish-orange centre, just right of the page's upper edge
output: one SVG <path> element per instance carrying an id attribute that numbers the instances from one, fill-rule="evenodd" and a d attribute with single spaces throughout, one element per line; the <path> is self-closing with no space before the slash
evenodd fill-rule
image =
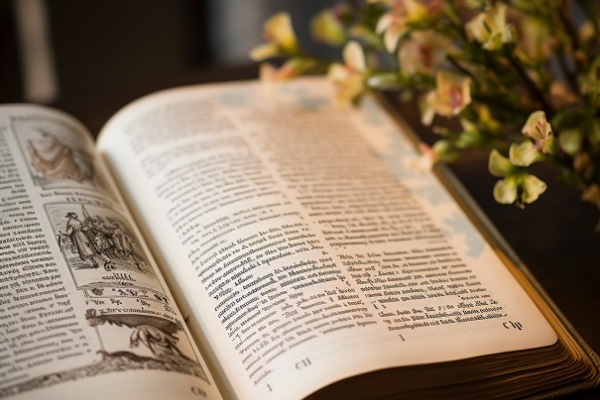
<path id="1" fill-rule="evenodd" d="M 436 89 L 425 98 L 425 111 L 421 118 L 430 125 L 435 114 L 445 117 L 457 115 L 471 103 L 471 78 L 448 71 L 436 75 Z"/>

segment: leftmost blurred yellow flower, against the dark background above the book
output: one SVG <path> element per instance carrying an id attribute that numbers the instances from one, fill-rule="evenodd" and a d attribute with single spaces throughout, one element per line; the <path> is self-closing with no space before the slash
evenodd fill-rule
<path id="1" fill-rule="evenodd" d="M 267 43 L 250 51 L 250 58 L 253 60 L 262 61 L 270 57 L 298 53 L 299 44 L 288 13 L 278 13 L 269 18 L 264 24 L 263 35 Z"/>

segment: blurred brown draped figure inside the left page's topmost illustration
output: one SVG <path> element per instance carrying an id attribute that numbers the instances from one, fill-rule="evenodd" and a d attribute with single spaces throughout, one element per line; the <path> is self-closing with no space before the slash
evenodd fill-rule
<path id="1" fill-rule="evenodd" d="M 41 131 L 42 139 L 28 142 L 33 167 L 46 178 L 70 179 L 82 182 L 92 178 L 89 163 L 55 136 Z"/>

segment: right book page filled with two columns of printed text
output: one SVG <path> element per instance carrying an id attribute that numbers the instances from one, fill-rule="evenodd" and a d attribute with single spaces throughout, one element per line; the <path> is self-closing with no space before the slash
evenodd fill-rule
<path id="1" fill-rule="evenodd" d="M 319 78 L 150 96 L 99 150 L 242 398 L 556 335 L 373 100 Z"/>

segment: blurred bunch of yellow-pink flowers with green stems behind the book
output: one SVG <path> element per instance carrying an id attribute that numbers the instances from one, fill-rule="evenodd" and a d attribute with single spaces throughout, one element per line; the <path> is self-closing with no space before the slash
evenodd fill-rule
<path id="1" fill-rule="evenodd" d="M 598 11 L 595 0 L 345 1 L 310 22 L 340 60 L 307 54 L 287 13 L 265 22 L 250 55 L 275 61 L 263 79 L 326 73 L 346 104 L 373 90 L 418 96 L 422 123 L 439 135 L 422 157 L 490 150 L 499 203 L 536 201 L 547 185 L 531 167 L 550 163 L 600 207 Z"/>

